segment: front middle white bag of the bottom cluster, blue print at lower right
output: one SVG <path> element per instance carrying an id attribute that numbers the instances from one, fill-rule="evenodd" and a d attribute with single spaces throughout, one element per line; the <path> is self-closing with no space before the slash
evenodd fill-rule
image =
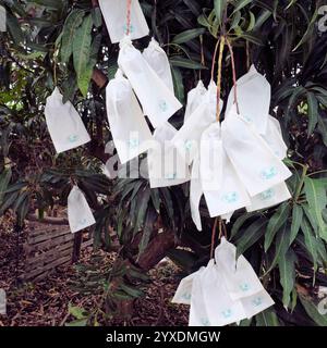
<path id="1" fill-rule="evenodd" d="M 234 301 L 229 296 L 223 277 L 214 260 L 209 261 L 199 278 L 205 310 L 210 326 L 225 326 L 246 318 L 241 301 Z"/>

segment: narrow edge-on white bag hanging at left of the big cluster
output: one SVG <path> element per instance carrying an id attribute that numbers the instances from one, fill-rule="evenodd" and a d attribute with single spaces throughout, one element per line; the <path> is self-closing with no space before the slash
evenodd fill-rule
<path id="1" fill-rule="evenodd" d="M 199 175 L 199 156 L 196 156 L 191 172 L 191 185 L 190 185 L 190 206 L 191 216 L 198 231 L 202 231 L 202 222 L 199 214 L 199 202 L 203 195 L 203 188 Z"/>

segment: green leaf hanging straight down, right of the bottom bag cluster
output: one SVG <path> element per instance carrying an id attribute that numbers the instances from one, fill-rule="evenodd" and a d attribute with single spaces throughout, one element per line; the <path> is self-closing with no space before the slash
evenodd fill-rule
<path id="1" fill-rule="evenodd" d="M 288 308 L 291 301 L 291 293 L 295 283 L 295 262 L 296 254 L 292 249 L 289 249 L 284 257 L 278 261 L 280 284 L 282 286 L 282 303 Z"/>

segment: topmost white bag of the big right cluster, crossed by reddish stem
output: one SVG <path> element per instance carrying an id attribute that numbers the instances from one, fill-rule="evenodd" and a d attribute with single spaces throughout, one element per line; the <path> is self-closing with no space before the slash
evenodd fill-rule
<path id="1" fill-rule="evenodd" d="M 238 103 L 240 114 L 251 122 L 259 134 L 267 128 L 271 88 L 265 76 L 252 65 L 250 71 L 237 82 Z M 234 87 L 232 87 L 227 102 L 226 115 L 234 104 Z"/>

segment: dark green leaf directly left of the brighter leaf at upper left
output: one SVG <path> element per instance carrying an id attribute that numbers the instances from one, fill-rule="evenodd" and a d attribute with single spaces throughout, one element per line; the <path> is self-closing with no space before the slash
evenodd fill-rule
<path id="1" fill-rule="evenodd" d="M 74 10 L 64 22 L 60 47 L 60 58 L 62 63 L 66 63 L 73 53 L 73 42 L 76 29 L 82 24 L 84 14 L 85 12 L 82 10 Z"/>

